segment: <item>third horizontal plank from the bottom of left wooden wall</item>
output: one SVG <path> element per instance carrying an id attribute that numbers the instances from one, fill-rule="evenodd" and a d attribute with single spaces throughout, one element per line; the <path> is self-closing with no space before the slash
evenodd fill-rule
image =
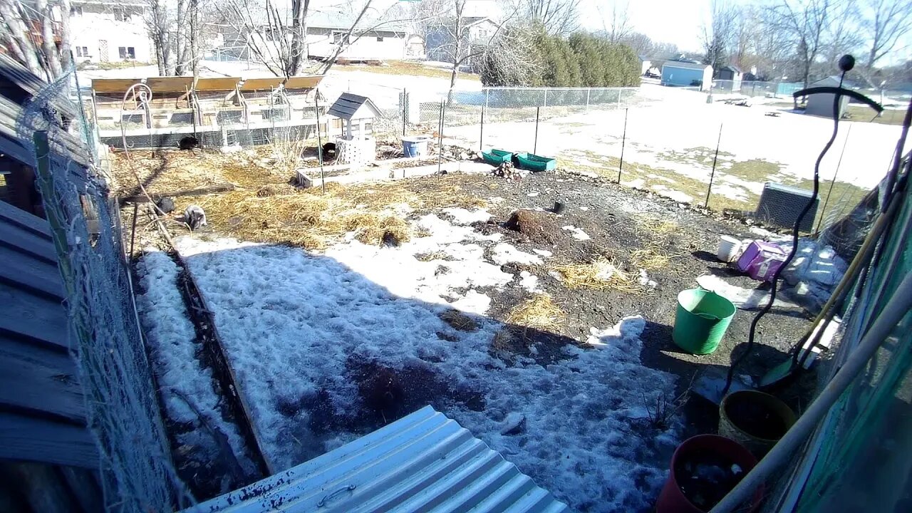
<path id="1" fill-rule="evenodd" d="M 67 312 L 59 301 L 0 282 L 0 331 L 67 348 Z"/>

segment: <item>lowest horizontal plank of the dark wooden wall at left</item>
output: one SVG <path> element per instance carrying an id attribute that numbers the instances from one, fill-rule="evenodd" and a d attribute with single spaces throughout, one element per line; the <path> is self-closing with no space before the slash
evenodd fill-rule
<path id="1" fill-rule="evenodd" d="M 88 428 L 0 412 L 0 458 L 98 468 Z"/>

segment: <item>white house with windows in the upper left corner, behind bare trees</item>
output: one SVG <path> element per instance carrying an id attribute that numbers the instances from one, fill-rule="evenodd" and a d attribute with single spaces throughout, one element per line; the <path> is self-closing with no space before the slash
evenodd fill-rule
<path id="1" fill-rule="evenodd" d="M 69 26 L 78 62 L 152 62 L 142 0 L 71 0 Z"/>

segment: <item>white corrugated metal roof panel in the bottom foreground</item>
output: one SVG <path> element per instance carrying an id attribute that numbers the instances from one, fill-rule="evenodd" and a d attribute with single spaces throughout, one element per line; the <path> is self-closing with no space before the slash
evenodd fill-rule
<path id="1" fill-rule="evenodd" d="M 559 513 L 569 508 L 426 406 L 354 442 L 187 513 Z"/>

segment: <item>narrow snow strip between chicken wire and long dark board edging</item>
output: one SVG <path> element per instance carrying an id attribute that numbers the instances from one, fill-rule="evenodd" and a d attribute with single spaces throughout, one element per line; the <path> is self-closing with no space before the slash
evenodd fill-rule
<path id="1" fill-rule="evenodd" d="M 202 422 L 227 437 L 244 470 L 254 471 L 254 464 L 244 455 L 244 442 L 237 426 L 225 422 L 219 411 L 219 396 L 215 392 L 218 385 L 212 371 L 201 368 L 197 354 L 202 349 L 177 288 L 179 268 L 171 257 L 149 248 L 137 271 L 144 292 L 137 296 L 136 307 L 149 341 L 152 368 L 158 377 L 165 410 L 174 422 L 196 425 L 194 430 L 178 434 L 178 441 L 182 445 L 202 447 L 210 455 L 220 450 L 212 434 L 185 402 L 191 401 L 205 416 Z"/>

